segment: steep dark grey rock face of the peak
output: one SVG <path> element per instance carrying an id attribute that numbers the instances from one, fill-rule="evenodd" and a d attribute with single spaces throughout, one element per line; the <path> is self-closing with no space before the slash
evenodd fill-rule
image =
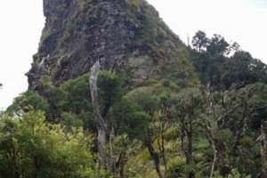
<path id="1" fill-rule="evenodd" d="M 40 88 L 44 75 L 61 85 L 90 71 L 95 61 L 103 69 L 129 69 L 140 81 L 184 46 L 144 0 L 44 0 L 44 16 L 27 74 L 30 90 Z"/>

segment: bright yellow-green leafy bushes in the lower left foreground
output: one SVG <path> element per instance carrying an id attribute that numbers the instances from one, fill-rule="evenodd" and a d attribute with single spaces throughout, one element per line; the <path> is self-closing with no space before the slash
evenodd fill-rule
<path id="1" fill-rule="evenodd" d="M 1 177 L 105 177 L 89 150 L 92 136 L 44 122 L 44 113 L 0 117 Z"/>

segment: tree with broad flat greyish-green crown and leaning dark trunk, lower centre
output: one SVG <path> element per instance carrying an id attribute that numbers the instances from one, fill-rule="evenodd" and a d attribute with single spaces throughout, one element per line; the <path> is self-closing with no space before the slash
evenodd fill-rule
<path id="1" fill-rule="evenodd" d="M 126 98 L 147 115 L 149 123 L 142 141 L 150 152 L 158 176 L 164 177 L 167 173 L 165 133 L 173 119 L 172 96 L 166 88 L 139 87 L 127 93 Z M 164 164 L 165 172 L 160 163 Z"/>

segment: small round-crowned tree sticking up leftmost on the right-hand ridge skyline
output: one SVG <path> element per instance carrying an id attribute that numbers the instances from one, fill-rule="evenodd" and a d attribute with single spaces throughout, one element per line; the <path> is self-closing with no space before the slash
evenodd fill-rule
<path id="1" fill-rule="evenodd" d="M 204 31 L 198 30 L 195 36 L 193 36 L 192 45 L 198 50 L 198 52 L 203 52 L 206 50 L 206 46 L 209 44 L 209 39 L 206 37 Z"/>

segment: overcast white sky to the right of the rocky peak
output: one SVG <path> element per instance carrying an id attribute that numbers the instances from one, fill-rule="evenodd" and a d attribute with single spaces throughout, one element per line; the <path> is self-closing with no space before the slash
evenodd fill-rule
<path id="1" fill-rule="evenodd" d="M 267 0 L 148 0 L 174 33 L 187 42 L 200 29 L 237 42 L 267 63 Z"/>

